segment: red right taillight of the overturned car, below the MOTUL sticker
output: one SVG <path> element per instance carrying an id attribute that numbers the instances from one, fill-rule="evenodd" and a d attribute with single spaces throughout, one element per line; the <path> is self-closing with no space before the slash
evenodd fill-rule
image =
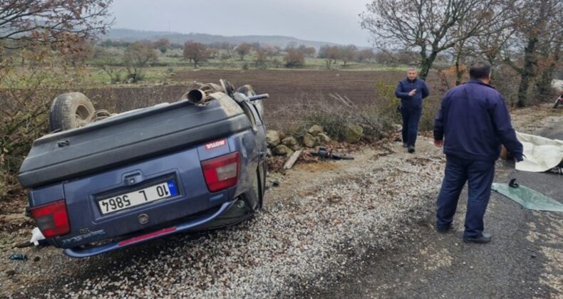
<path id="1" fill-rule="evenodd" d="M 239 179 L 239 163 L 238 152 L 203 161 L 202 169 L 207 189 L 217 192 L 236 185 Z"/>

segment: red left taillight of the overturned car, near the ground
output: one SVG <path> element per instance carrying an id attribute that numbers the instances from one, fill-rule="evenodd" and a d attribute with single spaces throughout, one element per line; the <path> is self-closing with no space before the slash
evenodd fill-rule
<path id="1" fill-rule="evenodd" d="M 35 219 L 45 238 L 61 236 L 71 231 L 64 199 L 31 208 L 31 217 Z"/>

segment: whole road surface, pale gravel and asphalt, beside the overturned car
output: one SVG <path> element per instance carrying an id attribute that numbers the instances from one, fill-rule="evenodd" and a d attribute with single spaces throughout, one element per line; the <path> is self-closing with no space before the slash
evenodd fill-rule
<path id="1" fill-rule="evenodd" d="M 416 154 L 394 143 L 353 156 L 353 161 L 298 164 L 285 176 L 274 174 L 270 182 L 281 184 L 269 187 L 264 210 L 231 229 L 160 238 L 85 259 L 68 258 L 56 248 L 27 248 L 19 252 L 28 261 L 9 261 L 13 250 L 3 246 L 0 296 L 560 294 L 561 216 L 525 211 L 495 196 L 486 219 L 495 240 L 491 246 L 466 246 L 460 219 L 453 234 L 438 236 L 429 226 L 444 164 L 429 138 L 420 138 Z M 499 169 L 500 176 L 511 176 L 510 167 Z M 525 176 L 520 179 L 529 184 Z"/>

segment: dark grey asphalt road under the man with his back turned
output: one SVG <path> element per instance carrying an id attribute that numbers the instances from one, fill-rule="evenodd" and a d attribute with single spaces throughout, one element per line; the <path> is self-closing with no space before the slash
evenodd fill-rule
<path id="1" fill-rule="evenodd" d="M 542 112 L 549 110 L 542 110 Z M 520 111 L 517 130 L 563 139 L 563 115 L 542 118 Z M 545 113 L 549 115 L 549 113 Z M 520 184 L 563 202 L 563 177 L 517 172 L 497 162 L 495 182 Z M 453 232 L 438 234 L 434 215 L 392 254 L 357 263 L 346 278 L 301 294 L 308 298 L 563 298 L 563 214 L 530 211 L 492 193 L 485 214 L 487 245 L 462 241 L 467 190 L 460 198 Z"/>

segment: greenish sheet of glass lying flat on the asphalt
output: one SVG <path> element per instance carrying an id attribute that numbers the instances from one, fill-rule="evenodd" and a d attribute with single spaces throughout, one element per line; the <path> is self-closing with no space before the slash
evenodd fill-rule
<path id="1" fill-rule="evenodd" d="M 537 211 L 563 211 L 563 204 L 522 185 L 513 188 L 508 186 L 508 184 L 493 183 L 492 191 L 507 196 L 526 209 Z"/>

